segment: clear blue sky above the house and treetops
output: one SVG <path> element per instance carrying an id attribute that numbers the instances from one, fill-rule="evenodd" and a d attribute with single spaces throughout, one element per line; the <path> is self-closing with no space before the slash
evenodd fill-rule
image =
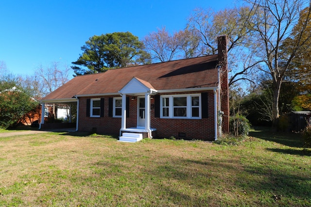
<path id="1" fill-rule="evenodd" d="M 195 8 L 232 8 L 236 0 L 1 0 L 0 61 L 17 75 L 42 64 L 71 66 L 89 37 L 131 32 L 141 40 L 184 29 Z M 73 74 L 73 73 L 72 73 Z"/>

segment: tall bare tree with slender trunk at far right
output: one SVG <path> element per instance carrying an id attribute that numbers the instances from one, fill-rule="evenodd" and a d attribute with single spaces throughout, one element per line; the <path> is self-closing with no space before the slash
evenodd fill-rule
<path id="1" fill-rule="evenodd" d="M 252 31 L 252 41 L 256 42 L 257 48 L 254 54 L 256 58 L 264 61 L 260 65 L 261 71 L 271 75 L 273 80 L 273 124 L 279 117 L 279 95 L 281 83 L 286 76 L 286 72 L 291 67 L 293 59 L 298 55 L 298 51 L 311 37 L 301 36 L 305 32 L 310 21 L 311 7 L 310 1 L 306 0 L 248 0 L 252 5 L 252 15 L 246 19 L 247 27 Z M 287 49 L 287 55 L 282 50 L 282 44 L 291 37 L 292 29 L 299 20 L 300 12 L 309 7 L 305 20 L 301 23 L 299 32 L 295 33 L 294 45 Z"/>

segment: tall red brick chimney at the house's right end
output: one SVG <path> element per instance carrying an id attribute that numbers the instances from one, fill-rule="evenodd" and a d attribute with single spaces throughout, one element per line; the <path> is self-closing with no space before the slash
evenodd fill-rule
<path id="1" fill-rule="evenodd" d="M 220 68 L 220 100 L 221 111 L 223 114 L 222 130 L 224 133 L 229 132 L 229 86 L 228 86 L 228 64 L 227 64 L 227 43 L 228 37 L 226 35 L 219 36 L 218 42 L 218 65 Z"/>

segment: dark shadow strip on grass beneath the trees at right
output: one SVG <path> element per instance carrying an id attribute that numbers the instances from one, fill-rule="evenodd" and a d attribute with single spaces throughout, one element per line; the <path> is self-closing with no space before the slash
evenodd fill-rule
<path id="1" fill-rule="evenodd" d="M 254 130 L 249 132 L 249 136 L 290 147 L 303 147 L 301 134 L 273 131 L 270 127 L 254 127 Z"/>

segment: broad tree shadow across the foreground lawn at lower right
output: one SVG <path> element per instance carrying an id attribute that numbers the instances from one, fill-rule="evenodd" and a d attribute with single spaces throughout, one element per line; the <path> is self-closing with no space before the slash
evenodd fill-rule
<path id="1" fill-rule="evenodd" d="M 214 203 L 216 200 L 219 201 L 223 199 L 222 196 L 228 196 L 224 195 L 224 191 L 237 191 L 236 196 L 244 191 L 247 194 L 245 196 L 249 197 L 261 193 L 265 203 L 260 206 L 272 202 L 276 202 L 276 206 L 283 206 L 286 201 L 276 200 L 275 195 L 283 196 L 285 199 L 294 196 L 301 200 L 311 196 L 311 187 L 308 184 L 310 177 L 279 170 L 280 168 L 271 169 L 262 164 L 257 165 L 252 162 L 241 164 L 237 160 L 218 158 L 205 161 L 172 159 L 170 162 L 158 164 L 156 168 L 148 171 L 149 175 L 158 176 L 157 179 L 167 180 L 167 182 L 178 180 L 181 186 L 189 186 L 196 191 L 207 193 L 204 196 L 200 196 L 200 193 L 194 196 L 176 189 L 173 185 L 159 185 L 157 188 L 172 197 L 175 204 L 179 204 L 180 201 L 190 201 L 193 206 L 202 206 L 206 203 L 216 206 L 218 205 Z M 221 172 L 225 172 L 229 177 L 222 175 Z M 222 196 L 217 197 L 217 195 Z M 258 201 L 255 200 L 255 202 Z M 234 198 L 228 198 L 225 201 L 225 206 L 235 204 Z M 259 203 L 250 204 L 252 205 L 256 206 Z"/>

